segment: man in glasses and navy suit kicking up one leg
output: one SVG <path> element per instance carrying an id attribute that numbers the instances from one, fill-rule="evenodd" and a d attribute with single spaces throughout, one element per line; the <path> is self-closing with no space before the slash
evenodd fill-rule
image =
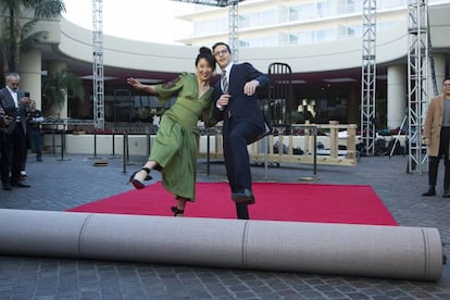
<path id="1" fill-rule="evenodd" d="M 229 46 L 224 42 L 215 43 L 212 50 L 222 70 L 221 80 L 214 86 L 214 101 L 215 113 L 223 120 L 226 175 L 237 217 L 248 220 L 248 204 L 254 203 L 254 195 L 247 145 L 265 134 L 266 123 L 255 91 L 270 78 L 249 63 L 233 63 Z"/>

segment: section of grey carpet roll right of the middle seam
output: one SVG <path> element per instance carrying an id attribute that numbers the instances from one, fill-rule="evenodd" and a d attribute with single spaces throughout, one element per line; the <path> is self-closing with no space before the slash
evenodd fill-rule
<path id="1" fill-rule="evenodd" d="M 435 228 L 251 222 L 245 261 L 246 268 L 437 280 L 442 255 Z"/>

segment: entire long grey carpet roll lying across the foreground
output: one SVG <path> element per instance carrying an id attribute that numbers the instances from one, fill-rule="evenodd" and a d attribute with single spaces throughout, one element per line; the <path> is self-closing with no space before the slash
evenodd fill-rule
<path id="1" fill-rule="evenodd" d="M 0 210 L 0 253 L 438 280 L 428 227 Z"/>

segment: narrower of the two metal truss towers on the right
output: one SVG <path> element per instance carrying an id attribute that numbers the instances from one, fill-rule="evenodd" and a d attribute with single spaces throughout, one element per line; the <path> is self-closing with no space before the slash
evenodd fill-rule
<path id="1" fill-rule="evenodd" d="M 361 141 L 363 154 L 375 154 L 376 138 L 376 0 L 363 1 L 363 53 L 361 79 Z"/>

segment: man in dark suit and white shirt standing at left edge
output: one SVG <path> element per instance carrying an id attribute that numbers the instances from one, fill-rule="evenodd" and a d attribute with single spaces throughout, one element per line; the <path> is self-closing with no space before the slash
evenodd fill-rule
<path id="1" fill-rule="evenodd" d="M 21 182 L 22 163 L 26 155 L 26 113 L 30 103 L 29 97 L 18 89 L 21 76 L 17 73 L 7 75 L 7 86 L 0 89 L 0 104 L 4 114 L 9 118 L 7 127 L 7 147 L 10 151 L 10 160 L 2 160 L 2 163 L 9 162 L 11 177 L 9 184 L 15 187 L 29 187 Z M 7 168 L 1 166 L 1 170 Z M 3 177 L 3 189 L 8 187 L 8 178 Z"/>

